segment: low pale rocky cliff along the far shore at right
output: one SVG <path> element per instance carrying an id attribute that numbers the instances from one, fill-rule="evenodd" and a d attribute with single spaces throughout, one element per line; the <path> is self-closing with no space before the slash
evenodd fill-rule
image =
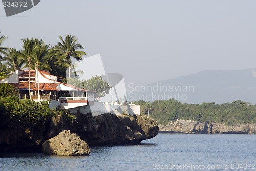
<path id="1" fill-rule="evenodd" d="M 186 134 L 256 134 L 256 124 L 225 125 L 223 123 L 177 120 L 159 125 L 160 132 Z"/>

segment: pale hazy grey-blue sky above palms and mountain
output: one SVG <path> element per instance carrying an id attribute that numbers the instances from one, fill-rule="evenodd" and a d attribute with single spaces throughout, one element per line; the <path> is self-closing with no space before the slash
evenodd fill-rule
<path id="1" fill-rule="evenodd" d="M 88 57 L 100 54 L 106 73 L 144 85 L 256 68 L 255 9 L 254 0 L 42 0 L 10 17 L 0 5 L 0 34 L 8 37 L 2 46 L 16 49 L 26 37 L 56 45 L 74 35 Z"/>

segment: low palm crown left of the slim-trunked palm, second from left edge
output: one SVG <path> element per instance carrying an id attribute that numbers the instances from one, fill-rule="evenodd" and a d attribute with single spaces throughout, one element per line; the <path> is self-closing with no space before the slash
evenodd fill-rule
<path id="1" fill-rule="evenodd" d="M 16 49 L 9 49 L 8 55 L 4 58 L 12 72 L 19 70 L 25 63 L 25 60 L 19 55 L 21 52 Z"/>

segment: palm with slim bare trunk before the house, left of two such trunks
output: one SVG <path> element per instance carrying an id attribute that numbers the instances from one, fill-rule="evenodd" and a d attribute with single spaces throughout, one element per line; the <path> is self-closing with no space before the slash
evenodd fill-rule
<path id="1" fill-rule="evenodd" d="M 35 56 L 35 52 L 37 50 L 37 46 L 35 45 L 35 41 L 33 38 L 31 39 L 22 39 L 23 41 L 23 51 L 20 55 L 25 59 L 26 65 L 29 70 L 29 95 L 30 95 L 30 69 L 31 69 L 31 59 Z"/>

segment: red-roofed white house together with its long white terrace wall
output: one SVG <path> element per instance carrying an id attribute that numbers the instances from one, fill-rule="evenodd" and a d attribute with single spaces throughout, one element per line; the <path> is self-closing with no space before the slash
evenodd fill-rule
<path id="1" fill-rule="evenodd" d="M 61 105 L 70 112 L 91 112 L 93 116 L 103 113 L 122 114 L 125 111 L 130 115 L 140 114 L 138 105 L 97 102 L 94 91 L 63 83 L 62 80 L 63 78 L 51 75 L 48 71 L 30 70 L 29 84 L 29 71 L 16 70 L 9 78 L 0 80 L 0 83 L 9 83 L 18 88 L 20 99 L 31 99 L 36 102 L 49 100 L 51 109 Z"/>

